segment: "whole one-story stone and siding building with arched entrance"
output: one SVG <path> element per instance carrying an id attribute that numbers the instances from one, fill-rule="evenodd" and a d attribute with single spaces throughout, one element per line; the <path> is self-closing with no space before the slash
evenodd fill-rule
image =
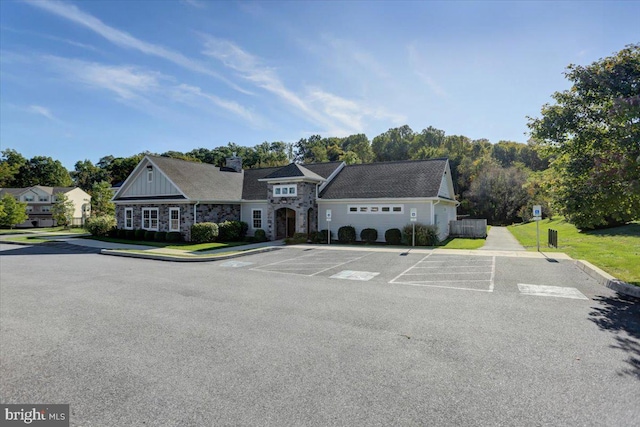
<path id="1" fill-rule="evenodd" d="M 156 156 L 142 159 L 113 202 L 118 228 L 179 231 L 187 240 L 194 223 L 240 220 L 249 235 L 263 229 L 272 240 L 352 225 L 358 235 L 376 228 L 384 241 L 386 230 L 410 223 L 412 209 L 444 239 L 458 205 L 447 159 L 243 170 L 238 157 L 219 168 Z"/>

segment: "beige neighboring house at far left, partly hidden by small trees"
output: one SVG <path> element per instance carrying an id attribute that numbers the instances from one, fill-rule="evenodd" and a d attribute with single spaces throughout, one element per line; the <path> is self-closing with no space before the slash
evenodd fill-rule
<path id="1" fill-rule="evenodd" d="M 51 214 L 51 207 L 58 194 L 65 194 L 73 202 L 72 225 L 84 225 L 91 213 L 91 196 L 77 187 L 46 187 L 34 185 L 27 188 L 0 188 L 0 197 L 11 194 L 19 202 L 27 203 L 29 218 L 17 227 L 52 227 L 56 223 Z"/>

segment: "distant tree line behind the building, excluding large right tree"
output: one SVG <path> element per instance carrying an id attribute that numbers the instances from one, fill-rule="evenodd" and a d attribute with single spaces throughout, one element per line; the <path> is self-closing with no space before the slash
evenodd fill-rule
<path id="1" fill-rule="evenodd" d="M 528 177 L 547 168 L 533 143 L 499 141 L 492 144 L 486 139 L 471 140 L 460 135 L 446 135 L 443 130 L 429 126 L 414 132 L 409 126 L 389 129 L 372 141 L 365 134 L 344 138 L 312 135 L 296 143 L 263 142 L 255 147 L 234 143 L 213 149 L 197 148 L 188 152 L 143 152 L 130 157 L 102 157 L 96 164 L 90 160 L 76 162 L 74 170 L 67 171 L 58 160 L 37 156 L 24 158 L 15 150 L 2 151 L 0 158 L 0 186 L 28 187 L 31 185 L 76 185 L 93 196 L 100 194 L 98 183 L 117 185 L 123 182 L 145 154 L 178 158 L 193 162 L 223 166 L 226 158 L 236 154 L 246 169 L 285 166 L 290 162 L 321 163 L 344 161 L 347 164 L 381 161 L 421 160 L 447 157 L 450 161 L 456 194 L 461 197 L 461 210 L 491 222 L 513 222 L 522 206 L 497 206 L 506 193 L 511 205 L 526 204 L 523 185 Z M 476 177 L 490 176 L 489 180 Z M 496 191 L 500 197 L 485 203 L 487 194 Z M 499 208 L 495 210 L 495 208 Z M 495 212 L 494 212 L 495 210 Z"/>

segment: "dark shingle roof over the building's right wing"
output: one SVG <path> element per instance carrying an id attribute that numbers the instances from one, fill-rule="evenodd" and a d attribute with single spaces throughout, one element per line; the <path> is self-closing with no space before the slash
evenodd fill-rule
<path id="1" fill-rule="evenodd" d="M 437 197 L 447 159 L 348 165 L 320 194 L 322 199 Z"/>

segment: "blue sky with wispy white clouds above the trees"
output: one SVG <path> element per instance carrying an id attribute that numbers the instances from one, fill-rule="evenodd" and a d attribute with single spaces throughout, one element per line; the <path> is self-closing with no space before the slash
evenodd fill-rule
<path id="1" fill-rule="evenodd" d="M 78 160 L 526 116 L 640 41 L 640 2 L 0 1 L 0 146 Z"/>

